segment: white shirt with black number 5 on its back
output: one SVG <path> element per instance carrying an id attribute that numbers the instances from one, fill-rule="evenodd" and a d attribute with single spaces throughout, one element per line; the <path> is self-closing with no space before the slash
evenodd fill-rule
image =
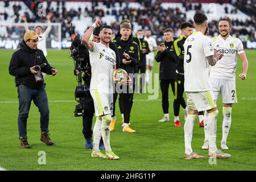
<path id="1" fill-rule="evenodd" d="M 193 32 L 184 43 L 185 92 L 210 90 L 207 56 L 214 55 L 212 42 L 201 32 Z"/>

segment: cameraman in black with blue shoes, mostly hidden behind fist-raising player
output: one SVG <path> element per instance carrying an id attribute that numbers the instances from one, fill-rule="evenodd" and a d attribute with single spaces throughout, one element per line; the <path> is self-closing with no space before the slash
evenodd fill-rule
<path id="1" fill-rule="evenodd" d="M 100 42 L 100 36 L 99 36 L 100 29 L 101 29 L 101 26 L 94 28 L 92 38 L 91 38 L 93 40 L 93 42 L 97 42 L 97 43 Z M 110 42 L 109 47 L 117 55 L 117 64 L 119 65 L 119 53 L 118 53 L 117 46 L 115 46 L 114 43 Z M 84 80 L 86 85 L 90 86 L 90 78 L 92 77 L 92 72 L 91 72 L 91 69 L 90 69 L 89 56 L 88 56 L 86 61 L 88 61 L 89 69 L 86 69 L 86 70 L 84 69 L 86 65 L 84 63 L 85 61 L 83 61 L 82 64 L 81 64 L 81 68 L 84 71 L 84 76 L 82 77 L 82 79 Z M 76 63 L 76 68 L 75 68 L 74 73 L 75 73 L 75 75 L 79 75 L 79 70 L 78 70 L 77 63 Z M 90 96 L 90 93 L 89 93 L 89 98 L 88 97 L 87 98 L 81 98 L 81 100 L 82 100 L 82 110 L 83 110 L 83 113 L 82 113 L 82 126 L 83 126 L 82 134 L 84 134 L 84 138 L 85 138 L 85 148 L 86 149 L 91 149 L 91 148 L 93 148 L 93 144 L 92 144 L 92 134 L 93 134 L 92 122 L 93 122 L 93 115 L 95 113 L 93 99 L 92 99 L 92 96 Z M 105 150 L 102 137 L 101 137 L 101 140 L 100 140 L 99 149 L 100 150 Z"/>

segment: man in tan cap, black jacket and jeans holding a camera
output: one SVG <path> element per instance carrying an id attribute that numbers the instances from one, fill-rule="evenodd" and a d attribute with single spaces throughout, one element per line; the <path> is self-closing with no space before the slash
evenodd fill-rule
<path id="1" fill-rule="evenodd" d="M 41 141 L 49 146 L 54 144 L 48 134 L 49 107 L 42 72 L 55 76 L 57 70 L 48 64 L 43 51 L 37 48 L 39 37 L 36 32 L 27 31 L 9 65 L 9 73 L 15 76 L 18 86 L 18 129 L 22 148 L 31 148 L 27 142 L 27 118 L 32 100 L 40 112 Z"/>

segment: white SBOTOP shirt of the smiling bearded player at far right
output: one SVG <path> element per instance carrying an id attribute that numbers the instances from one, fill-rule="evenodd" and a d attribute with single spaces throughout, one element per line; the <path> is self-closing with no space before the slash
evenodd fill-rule
<path id="1" fill-rule="evenodd" d="M 210 78 L 236 80 L 237 55 L 245 52 L 240 39 L 229 36 L 224 40 L 221 35 L 212 38 L 213 48 L 223 53 L 221 60 L 210 69 Z"/>

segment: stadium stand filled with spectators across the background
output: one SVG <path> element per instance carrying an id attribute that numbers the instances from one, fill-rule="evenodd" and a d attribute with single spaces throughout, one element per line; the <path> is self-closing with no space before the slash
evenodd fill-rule
<path id="1" fill-rule="evenodd" d="M 242 41 L 256 39 L 255 34 L 255 0 L 241 1 L 0 1 L 1 22 L 22 22 L 22 15 L 26 15 L 28 22 L 46 22 L 45 17 L 37 15 L 40 2 L 47 7 L 46 11 L 53 13 L 52 22 L 62 24 L 61 36 L 70 37 L 71 22 L 76 33 L 83 34 L 96 18 L 111 24 L 114 33 L 119 29 L 122 19 L 133 22 L 133 31 L 150 29 L 152 34 L 159 38 L 162 31 L 171 27 L 175 36 L 180 35 L 180 23 L 192 21 L 195 11 L 207 13 L 209 19 L 209 36 L 218 34 L 217 22 L 223 16 L 233 20 L 231 34 Z M 214 3 L 213 3 L 214 2 Z M 2 32 L 1 32 L 2 31 Z M 1 37 L 5 37 L 0 27 Z"/>

